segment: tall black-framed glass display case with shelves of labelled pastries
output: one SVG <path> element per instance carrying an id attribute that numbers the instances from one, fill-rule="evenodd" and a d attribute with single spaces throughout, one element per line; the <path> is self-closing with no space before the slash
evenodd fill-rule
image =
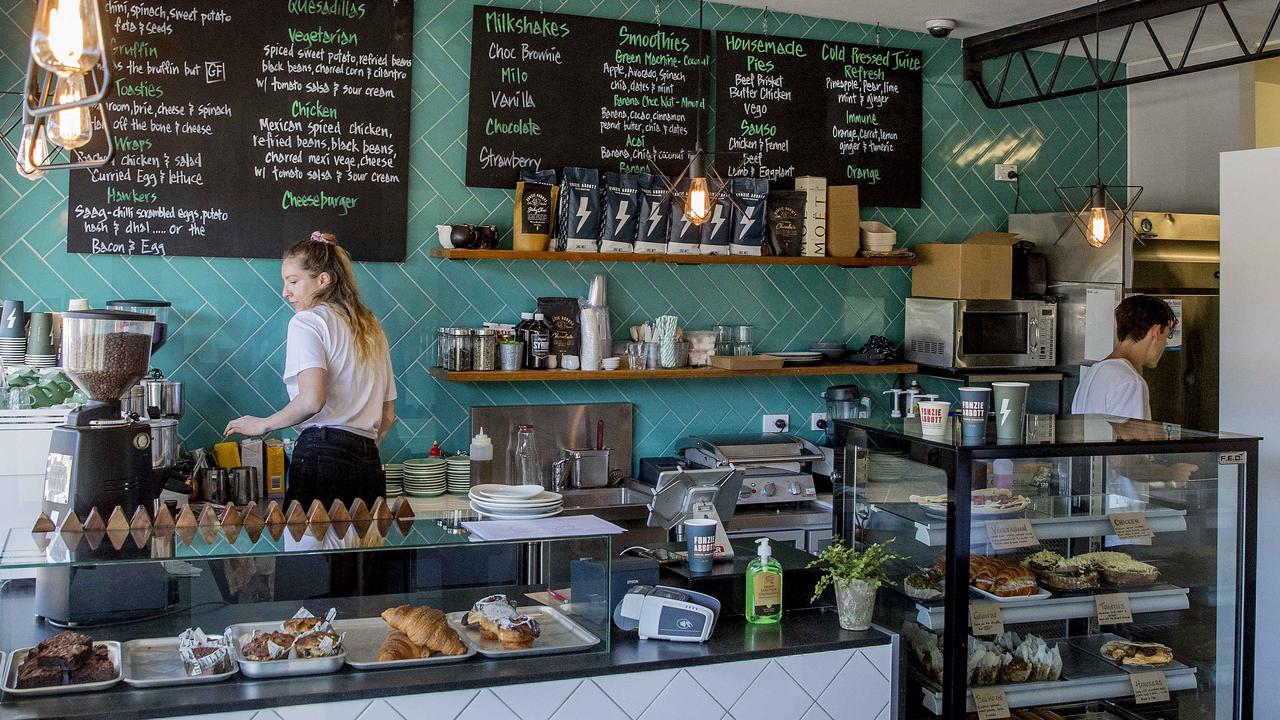
<path id="1" fill-rule="evenodd" d="M 1025 441 L 841 420 L 836 532 L 901 556 L 904 717 L 1252 715 L 1258 439 L 1100 415 Z"/>

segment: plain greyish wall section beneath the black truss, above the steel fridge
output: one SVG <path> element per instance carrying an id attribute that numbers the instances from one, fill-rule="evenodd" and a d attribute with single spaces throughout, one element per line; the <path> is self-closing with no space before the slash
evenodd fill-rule
<path id="1" fill-rule="evenodd" d="M 1216 214 L 1219 154 L 1249 147 L 1248 64 L 1129 88 L 1129 184 L 1143 187 L 1138 210 Z"/>

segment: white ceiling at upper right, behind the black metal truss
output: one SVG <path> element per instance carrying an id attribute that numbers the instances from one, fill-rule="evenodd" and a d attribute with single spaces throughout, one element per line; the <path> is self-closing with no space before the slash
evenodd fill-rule
<path id="1" fill-rule="evenodd" d="M 968 37 L 980 35 L 987 31 L 1000 29 L 1012 24 L 1034 20 L 1071 10 L 1080 6 L 1092 6 L 1088 0 L 717 0 L 730 5 L 744 8 L 764 8 L 769 12 L 797 13 L 819 18 L 835 18 L 840 20 L 859 22 L 867 24 L 881 23 L 886 27 L 896 27 L 915 32 L 924 32 L 924 20 L 929 18 L 954 18 L 957 22 L 952 37 Z M 1275 12 L 1276 0 L 1228 0 L 1228 9 L 1235 20 L 1240 35 L 1245 42 L 1257 46 L 1267 22 Z M 1181 13 L 1160 20 L 1153 20 L 1152 26 L 1165 47 L 1176 64 L 1187 46 L 1187 37 L 1190 35 L 1196 22 L 1196 13 Z M 1102 55 L 1114 59 L 1120 50 L 1124 31 L 1108 31 L 1102 33 Z M 1274 40 L 1280 40 L 1280 28 L 1272 32 Z M 1092 42 L 1089 44 L 1092 50 Z M 1050 47 L 1057 53 L 1061 45 Z M 1210 6 L 1199 32 L 1197 32 L 1192 54 L 1197 59 L 1203 54 L 1217 55 L 1221 51 L 1239 47 L 1235 37 L 1222 19 L 1216 6 Z M 1082 54 L 1079 45 L 1073 45 L 1069 53 Z M 1125 50 L 1126 63 L 1160 61 L 1158 51 L 1144 32 L 1135 32 Z"/>

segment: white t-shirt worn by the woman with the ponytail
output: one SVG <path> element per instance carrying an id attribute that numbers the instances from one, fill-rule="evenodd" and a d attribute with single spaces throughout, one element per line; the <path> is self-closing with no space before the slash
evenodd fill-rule
<path id="1" fill-rule="evenodd" d="M 324 407 L 298 428 L 338 428 L 376 438 L 383 402 L 396 400 L 390 354 L 361 366 L 347 322 L 332 307 L 317 305 L 289 320 L 284 350 L 284 387 L 289 400 L 298 396 L 298 374 L 311 368 L 326 370 L 329 392 Z"/>

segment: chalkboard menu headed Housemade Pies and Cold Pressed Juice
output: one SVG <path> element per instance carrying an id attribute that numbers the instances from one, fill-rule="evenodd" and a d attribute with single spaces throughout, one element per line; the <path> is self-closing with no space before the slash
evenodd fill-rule
<path id="1" fill-rule="evenodd" d="M 721 32 L 716 150 L 732 174 L 822 176 L 863 205 L 920 206 L 919 50 Z"/>

